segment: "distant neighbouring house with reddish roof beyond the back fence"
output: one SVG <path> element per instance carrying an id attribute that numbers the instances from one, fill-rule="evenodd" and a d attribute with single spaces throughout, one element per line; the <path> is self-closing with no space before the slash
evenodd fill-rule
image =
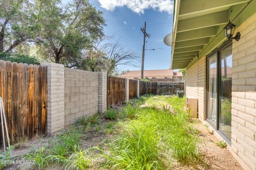
<path id="1" fill-rule="evenodd" d="M 136 71 L 127 71 L 120 76 L 121 78 L 128 79 L 140 79 L 141 78 L 141 70 Z M 173 70 L 145 70 L 144 78 L 149 79 L 150 81 L 157 82 L 174 82 L 180 83 L 182 82 L 182 73 L 174 72 Z"/>

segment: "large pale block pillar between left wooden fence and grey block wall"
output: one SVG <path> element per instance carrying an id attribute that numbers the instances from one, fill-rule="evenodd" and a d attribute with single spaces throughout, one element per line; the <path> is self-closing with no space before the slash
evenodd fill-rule
<path id="1" fill-rule="evenodd" d="M 64 65 L 41 63 L 47 66 L 47 134 L 52 135 L 64 128 Z"/>

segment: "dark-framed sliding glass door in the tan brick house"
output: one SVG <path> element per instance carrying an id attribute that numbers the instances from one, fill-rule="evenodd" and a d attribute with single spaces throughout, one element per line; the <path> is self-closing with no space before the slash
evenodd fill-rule
<path id="1" fill-rule="evenodd" d="M 206 61 L 206 118 L 230 143 L 232 45 L 223 45 Z"/>

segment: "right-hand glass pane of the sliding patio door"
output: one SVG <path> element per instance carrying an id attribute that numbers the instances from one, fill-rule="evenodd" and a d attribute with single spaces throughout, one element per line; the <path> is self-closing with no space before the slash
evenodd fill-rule
<path id="1" fill-rule="evenodd" d="M 220 51 L 219 130 L 231 140 L 232 46 Z"/>

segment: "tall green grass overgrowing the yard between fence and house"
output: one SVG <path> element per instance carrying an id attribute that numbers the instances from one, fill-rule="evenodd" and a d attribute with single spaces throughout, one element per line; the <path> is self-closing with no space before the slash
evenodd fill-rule
<path id="1" fill-rule="evenodd" d="M 140 107 L 147 101 L 154 105 Z M 157 107 L 163 103 L 171 105 L 171 109 Z M 102 163 L 96 168 L 106 169 L 170 169 L 174 162 L 197 168 L 203 163 L 203 156 L 197 147 L 197 130 L 185 103 L 185 98 L 178 97 L 140 97 L 134 103 L 127 103 L 118 113 L 115 111 L 114 117 L 123 119 L 118 123 L 121 130 L 113 139 L 106 140 L 102 147 L 81 149 L 81 131 L 73 129 L 57 135 L 49 146 L 31 152 L 27 158 L 36 160 L 39 169 L 49 165 L 86 169 L 93 162 Z M 105 116 L 113 120 L 111 112 L 109 110 L 109 115 Z M 100 122 L 99 115 L 95 115 L 89 120 L 82 118 L 77 125 L 97 128 Z M 103 130 L 112 132 L 114 125 L 114 122 L 109 122 Z M 86 133 L 84 129 L 82 132 Z"/>

